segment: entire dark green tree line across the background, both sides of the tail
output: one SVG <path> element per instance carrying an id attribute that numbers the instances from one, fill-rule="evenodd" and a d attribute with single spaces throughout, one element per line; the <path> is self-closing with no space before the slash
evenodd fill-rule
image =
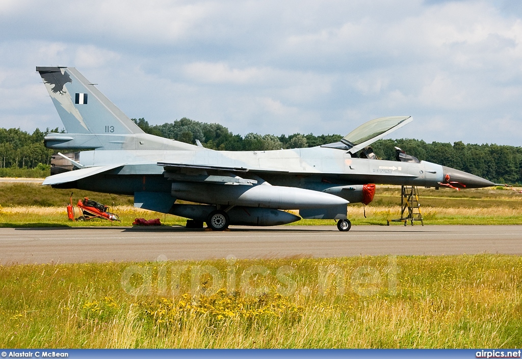
<path id="1" fill-rule="evenodd" d="M 233 134 L 227 127 L 216 123 L 181 118 L 172 123 L 151 126 L 145 118 L 133 121 L 146 133 L 187 143 L 199 140 L 204 147 L 227 151 L 278 150 L 315 147 L 337 142 L 337 134 L 319 135 L 259 135 L 249 133 L 244 137 Z M 43 138 L 58 128 L 32 134 L 19 128 L 0 128 L 0 169 L 46 170 L 55 150 L 46 149 Z M 60 131 L 64 132 L 64 130 Z M 417 157 L 419 160 L 442 164 L 487 178 L 495 183 L 522 184 L 522 147 L 495 144 L 464 144 L 432 142 L 416 139 L 384 139 L 372 144 L 378 158 L 395 160 L 395 147 Z"/>

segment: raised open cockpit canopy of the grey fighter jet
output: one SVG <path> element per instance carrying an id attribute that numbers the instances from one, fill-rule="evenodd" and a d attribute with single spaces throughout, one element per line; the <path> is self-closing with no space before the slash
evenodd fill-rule
<path id="1" fill-rule="evenodd" d="M 340 142 L 329 143 L 323 147 L 345 149 L 353 154 L 402 126 L 409 124 L 412 120 L 411 116 L 375 118 L 355 128 L 343 137 Z"/>

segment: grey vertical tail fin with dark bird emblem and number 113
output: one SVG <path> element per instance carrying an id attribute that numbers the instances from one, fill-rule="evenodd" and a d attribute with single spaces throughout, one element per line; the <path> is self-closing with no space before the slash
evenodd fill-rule
<path id="1" fill-rule="evenodd" d="M 36 70 L 51 95 L 67 133 L 143 133 L 143 130 L 74 67 L 38 66 Z"/>

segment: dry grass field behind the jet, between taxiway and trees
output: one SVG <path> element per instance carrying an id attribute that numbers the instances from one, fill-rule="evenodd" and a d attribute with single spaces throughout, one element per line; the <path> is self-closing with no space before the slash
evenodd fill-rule
<path id="1" fill-rule="evenodd" d="M 456 191 L 419 188 L 425 224 L 522 224 L 522 194 L 497 187 Z M 74 191 L 78 198 L 89 197 L 112 206 L 122 222 L 103 220 L 67 221 L 65 206 L 71 190 L 53 189 L 38 184 L 0 184 L 0 226 L 85 226 L 131 225 L 135 218 L 160 218 L 166 225 L 184 225 L 186 219 L 144 211 L 132 207 L 133 197 Z M 354 225 L 384 225 L 387 219 L 400 217 L 400 187 L 378 186 L 373 202 L 348 206 L 348 218 Z M 78 216 L 78 215 L 77 215 Z M 301 220 L 291 225 L 331 225 L 331 220 Z M 401 224 L 401 223 L 399 223 Z"/>

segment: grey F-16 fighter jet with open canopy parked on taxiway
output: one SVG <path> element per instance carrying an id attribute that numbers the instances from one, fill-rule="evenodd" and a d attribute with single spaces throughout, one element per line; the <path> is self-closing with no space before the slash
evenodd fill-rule
<path id="1" fill-rule="evenodd" d="M 53 157 L 44 185 L 134 196 L 134 206 L 185 217 L 187 227 L 267 226 L 334 219 L 350 230 L 347 204 L 372 201 L 374 184 L 479 188 L 487 179 L 397 149 L 397 161 L 376 158 L 372 142 L 411 116 L 367 122 L 341 141 L 312 148 L 215 151 L 200 143 L 144 133 L 73 67 L 37 67 L 67 130 L 50 133 Z M 179 204 L 177 200 L 197 204 Z M 301 217 L 284 210 L 299 210 Z"/>

